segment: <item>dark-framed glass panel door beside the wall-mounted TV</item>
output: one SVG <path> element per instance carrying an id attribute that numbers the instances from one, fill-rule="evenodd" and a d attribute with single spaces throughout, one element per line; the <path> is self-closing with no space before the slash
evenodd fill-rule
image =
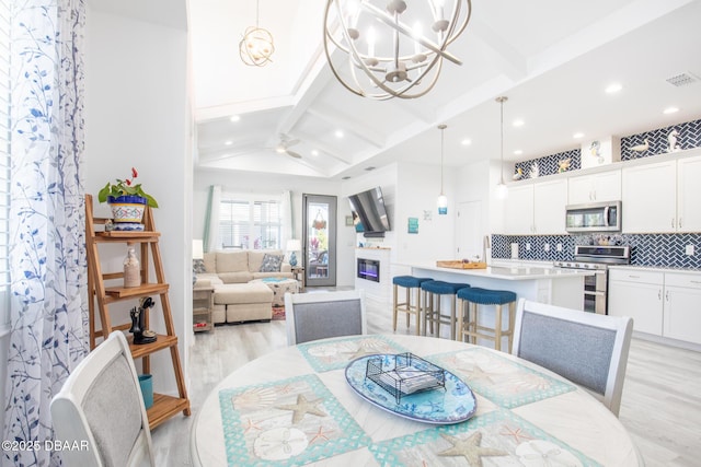
<path id="1" fill-rule="evenodd" d="M 336 284 L 336 197 L 302 195 L 307 287 Z"/>

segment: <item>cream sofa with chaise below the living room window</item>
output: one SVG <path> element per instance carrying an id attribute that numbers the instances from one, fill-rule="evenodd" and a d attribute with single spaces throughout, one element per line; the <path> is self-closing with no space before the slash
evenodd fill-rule
<path id="1" fill-rule="evenodd" d="M 265 255 L 280 257 L 279 270 L 265 270 Z M 196 276 L 195 287 L 211 285 L 214 292 L 212 322 L 241 323 L 273 317 L 273 291 L 260 282 L 266 277 L 292 278 L 291 266 L 279 249 L 243 249 L 205 253 L 204 270 Z M 271 266 L 268 261 L 267 266 Z M 262 270 L 264 269 L 264 270 Z"/>

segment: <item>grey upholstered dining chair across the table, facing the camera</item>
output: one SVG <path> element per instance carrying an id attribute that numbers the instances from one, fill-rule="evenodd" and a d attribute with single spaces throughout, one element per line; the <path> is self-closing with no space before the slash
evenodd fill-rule
<path id="1" fill-rule="evenodd" d="M 285 294 L 287 343 L 366 334 L 361 290 Z"/>

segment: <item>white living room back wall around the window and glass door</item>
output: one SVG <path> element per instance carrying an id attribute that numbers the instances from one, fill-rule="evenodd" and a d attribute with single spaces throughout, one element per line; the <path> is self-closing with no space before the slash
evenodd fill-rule
<path id="1" fill-rule="evenodd" d="M 295 236 L 301 238 L 302 194 L 337 197 L 336 233 L 336 285 L 352 287 L 354 283 L 355 232 L 345 226 L 345 217 L 350 214 L 348 200 L 341 195 L 341 184 L 324 178 L 197 170 L 193 191 L 193 238 L 202 238 L 205 230 L 208 190 L 211 185 L 221 185 L 222 191 L 237 194 L 276 195 L 285 190 L 292 194 L 292 219 Z"/>

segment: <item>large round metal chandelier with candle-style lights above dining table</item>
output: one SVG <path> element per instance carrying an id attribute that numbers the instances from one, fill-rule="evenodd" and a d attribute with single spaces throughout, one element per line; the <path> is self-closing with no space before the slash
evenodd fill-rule
<path id="1" fill-rule="evenodd" d="M 324 52 L 336 79 L 369 98 L 416 98 L 438 80 L 448 46 L 466 30 L 471 0 L 327 0 Z"/>

